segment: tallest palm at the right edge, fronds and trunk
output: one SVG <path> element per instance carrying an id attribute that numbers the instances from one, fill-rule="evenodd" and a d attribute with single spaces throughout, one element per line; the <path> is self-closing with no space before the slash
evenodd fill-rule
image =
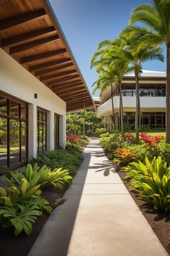
<path id="1" fill-rule="evenodd" d="M 166 45 L 166 142 L 170 143 L 170 0 L 152 0 L 153 5 L 141 4 L 132 11 L 129 25 L 121 34 L 137 35 L 137 51 L 148 46 Z M 131 26 L 142 22 L 148 28 Z"/>

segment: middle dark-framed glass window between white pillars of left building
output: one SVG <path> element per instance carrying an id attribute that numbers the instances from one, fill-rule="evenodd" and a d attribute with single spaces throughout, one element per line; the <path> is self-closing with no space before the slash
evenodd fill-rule
<path id="1" fill-rule="evenodd" d="M 46 151 L 46 111 L 37 109 L 37 154 Z"/>

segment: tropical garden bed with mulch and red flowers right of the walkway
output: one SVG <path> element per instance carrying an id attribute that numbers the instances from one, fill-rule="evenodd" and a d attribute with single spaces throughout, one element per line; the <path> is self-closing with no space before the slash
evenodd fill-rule
<path id="1" fill-rule="evenodd" d="M 124 139 L 120 134 L 101 135 L 100 144 L 170 255 L 170 145 L 163 135 L 151 135 L 140 134 L 139 142 L 131 133 L 126 134 Z"/>

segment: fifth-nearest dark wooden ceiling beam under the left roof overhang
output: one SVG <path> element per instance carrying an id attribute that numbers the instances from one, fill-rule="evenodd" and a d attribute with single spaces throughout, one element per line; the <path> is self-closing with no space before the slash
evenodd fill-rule
<path id="1" fill-rule="evenodd" d="M 35 66 L 31 66 L 29 68 L 30 72 L 34 72 L 34 71 L 43 71 L 44 69 L 50 68 L 50 67 L 56 67 L 58 65 L 61 65 L 63 63 L 67 63 L 70 62 L 71 58 L 65 58 L 65 59 L 59 59 L 59 60 L 52 60 L 52 61 L 48 61 L 42 64 L 38 64 Z"/>

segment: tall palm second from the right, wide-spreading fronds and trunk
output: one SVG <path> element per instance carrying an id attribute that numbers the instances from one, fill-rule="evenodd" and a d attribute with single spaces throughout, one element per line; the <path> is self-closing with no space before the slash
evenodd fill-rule
<path id="1" fill-rule="evenodd" d="M 161 60 L 163 61 L 163 54 L 161 47 L 148 47 L 142 48 L 138 51 L 134 51 L 134 42 L 138 40 L 139 36 L 121 36 L 116 38 L 114 41 L 107 41 L 107 48 L 96 52 L 91 61 L 91 67 L 100 67 L 101 63 L 106 65 L 106 63 L 114 63 L 115 60 L 123 60 L 125 63 L 130 64 L 135 71 L 135 82 L 136 82 L 136 140 L 139 140 L 139 125 L 140 125 L 140 99 L 139 99 L 139 73 L 142 69 L 142 63 L 147 60 Z M 101 47 L 105 46 L 101 42 Z M 99 59 L 97 59 L 99 58 Z"/>

